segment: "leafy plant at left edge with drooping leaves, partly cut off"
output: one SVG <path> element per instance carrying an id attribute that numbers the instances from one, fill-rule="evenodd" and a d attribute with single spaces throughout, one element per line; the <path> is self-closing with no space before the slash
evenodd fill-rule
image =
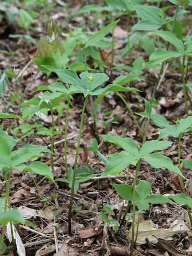
<path id="1" fill-rule="evenodd" d="M 10 214 L 11 214 L 11 204 L 10 204 L 10 197 L 9 197 L 9 186 L 10 186 L 10 179 L 11 179 L 13 168 L 18 169 L 20 171 L 26 170 L 36 174 L 44 175 L 45 177 L 49 178 L 51 181 L 54 182 L 53 173 L 50 171 L 49 167 L 45 163 L 35 161 L 29 165 L 24 164 L 29 162 L 31 159 L 36 159 L 37 157 L 43 156 L 42 152 L 49 152 L 52 154 L 51 150 L 43 146 L 26 144 L 22 148 L 19 148 L 18 150 L 13 151 L 13 147 L 16 145 L 16 143 L 17 141 L 13 139 L 13 137 L 7 135 L 5 131 L 0 130 L 0 149 L 1 149 L 0 170 L 3 172 L 3 177 L 5 178 L 5 182 L 6 182 L 5 205 L 8 203 Z M 9 172 L 9 177 L 7 177 L 8 172 Z M 5 211 L 6 211 L 6 207 L 5 207 Z M 4 241 L 4 235 L 5 235 L 5 224 L 4 224 L 3 233 L 2 233 L 2 244 L 1 244 L 2 246 Z M 11 224 L 11 235 L 12 235 L 12 241 L 14 244 L 12 224 Z M 2 250 L 3 250 L 3 247 L 1 248 L 1 252 Z"/>

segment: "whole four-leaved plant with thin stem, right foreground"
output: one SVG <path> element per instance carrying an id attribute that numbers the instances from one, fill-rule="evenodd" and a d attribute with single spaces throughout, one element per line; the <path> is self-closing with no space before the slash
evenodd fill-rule
<path id="1" fill-rule="evenodd" d="M 153 166 L 154 168 L 161 168 L 164 167 L 169 169 L 181 177 L 184 178 L 183 174 L 179 170 L 177 166 L 173 164 L 169 157 L 164 155 L 154 153 L 150 154 L 155 150 L 163 150 L 166 147 L 170 147 L 172 142 L 170 141 L 158 141 L 158 140 L 151 140 L 146 141 L 143 143 L 142 147 L 137 147 L 134 141 L 131 138 L 119 138 L 113 135 L 102 135 L 105 141 L 114 143 L 115 145 L 124 149 L 121 153 L 115 153 L 110 155 L 107 162 L 107 167 L 105 171 L 101 174 L 104 175 L 111 175 L 117 174 L 123 171 L 127 166 L 130 164 L 137 165 L 135 177 L 133 181 L 133 222 L 132 222 L 132 239 L 131 239 L 131 251 L 133 252 L 134 247 L 134 220 L 135 220 L 135 202 L 137 201 L 136 197 L 136 183 L 137 177 L 140 169 L 141 160 L 145 160 L 149 165 Z M 132 255 L 132 254 L 131 254 Z"/>

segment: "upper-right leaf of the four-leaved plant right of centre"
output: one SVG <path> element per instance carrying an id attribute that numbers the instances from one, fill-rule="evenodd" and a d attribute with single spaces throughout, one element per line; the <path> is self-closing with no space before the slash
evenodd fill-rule
<path id="1" fill-rule="evenodd" d="M 151 152 L 155 150 L 163 150 L 166 147 L 171 147 L 173 142 L 167 141 L 167 140 L 150 140 L 146 141 L 140 150 L 140 156 L 144 156 L 147 154 L 150 154 Z"/>

